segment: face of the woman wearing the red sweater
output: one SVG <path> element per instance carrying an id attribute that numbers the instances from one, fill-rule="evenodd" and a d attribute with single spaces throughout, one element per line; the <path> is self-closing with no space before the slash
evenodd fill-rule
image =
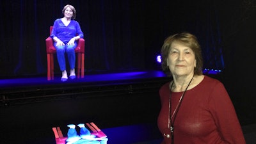
<path id="1" fill-rule="evenodd" d="M 191 48 L 179 42 L 173 42 L 168 54 L 167 65 L 172 74 L 177 76 L 194 74 L 194 67 L 196 67 L 195 54 Z"/>

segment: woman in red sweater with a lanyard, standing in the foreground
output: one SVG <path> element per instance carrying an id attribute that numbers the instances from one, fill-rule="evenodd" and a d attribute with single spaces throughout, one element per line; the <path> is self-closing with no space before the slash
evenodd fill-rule
<path id="1" fill-rule="evenodd" d="M 223 84 L 202 74 L 196 36 L 164 40 L 162 68 L 173 80 L 161 86 L 158 116 L 162 144 L 245 144 L 236 111 Z"/>

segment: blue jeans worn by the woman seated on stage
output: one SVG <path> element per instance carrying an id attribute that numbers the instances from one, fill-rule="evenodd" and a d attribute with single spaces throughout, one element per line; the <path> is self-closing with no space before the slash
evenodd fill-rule
<path id="1" fill-rule="evenodd" d="M 66 59 L 65 59 L 65 53 L 67 53 L 67 58 L 68 58 L 68 63 L 70 66 L 70 69 L 75 68 L 75 63 L 76 63 L 76 53 L 75 49 L 77 47 L 77 42 L 75 42 L 75 45 L 61 45 L 61 46 L 56 46 L 56 42 L 54 42 L 54 47 L 56 49 L 57 53 L 57 59 L 58 63 L 60 66 L 61 72 L 63 70 L 66 70 Z"/>

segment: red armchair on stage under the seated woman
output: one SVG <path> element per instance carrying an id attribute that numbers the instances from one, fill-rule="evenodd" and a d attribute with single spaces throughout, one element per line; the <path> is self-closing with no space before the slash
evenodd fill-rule
<path id="1" fill-rule="evenodd" d="M 52 26 L 50 27 L 50 35 L 52 32 Z M 47 52 L 47 80 L 54 79 L 54 58 L 53 54 L 56 53 L 56 49 L 53 46 L 52 38 L 49 36 L 45 40 L 46 52 Z M 75 49 L 77 54 L 77 78 L 84 77 L 84 38 L 79 38 L 77 47 Z"/>

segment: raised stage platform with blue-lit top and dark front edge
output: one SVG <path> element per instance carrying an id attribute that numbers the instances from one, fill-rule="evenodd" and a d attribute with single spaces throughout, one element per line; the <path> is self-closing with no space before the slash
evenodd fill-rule
<path id="1" fill-rule="evenodd" d="M 136 90 L 159 88 L 159 84 L 170 81 L 157 70 L 86 74 L 84 78 L 60 81 L 60 76 L 47 81 L 47 77 L 21 77 L 0 79 L 0 106 L 42 102 L 42 100 L 70 97 L 94 97 L 97 95 L 131 94 Z M 156 84 L 157 83 L 157 84 Z"/>

